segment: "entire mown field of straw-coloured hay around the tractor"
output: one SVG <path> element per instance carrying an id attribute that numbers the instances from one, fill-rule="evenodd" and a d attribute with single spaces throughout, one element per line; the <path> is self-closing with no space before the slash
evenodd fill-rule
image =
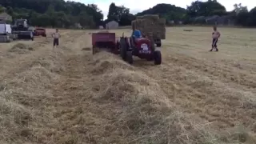
<path id="1" fill-rule="evenodd" d="M 162 65 L 92 56 L 92 30 L 0 44 L 0 143 L 256 143 L 256 30 L 167 28 Z M 130 35 L 130 30 L 113 30 Z"/>

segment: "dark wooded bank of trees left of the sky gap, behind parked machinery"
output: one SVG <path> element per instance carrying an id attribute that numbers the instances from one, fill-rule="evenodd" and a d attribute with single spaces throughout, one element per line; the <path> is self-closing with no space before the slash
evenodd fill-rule
<path id="1" fill-rule="evenodd" d="M 64 0 L 2 0 L 1 5 L 4 7 L 0 12 L 5 10 L 13 18 L 26 18 L 35 26 L 74 26 L 85 21 L 82 13 L 86 14 L 86 21 L 92 19 L 90 26 L 100 24 L 103 19 L 102 11 L 95 4 Z"/>

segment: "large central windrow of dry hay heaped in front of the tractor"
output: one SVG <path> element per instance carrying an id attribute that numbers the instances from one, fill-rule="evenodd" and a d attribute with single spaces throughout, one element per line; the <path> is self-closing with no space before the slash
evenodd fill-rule
<path id="1" fill-rule="evenodd" d="M 93 141 L 89 142 L 220 143 L 223 138 L 226 143 L 245 141 L 245 132 L 228 130 L 218 134 L 210 130 L 210 122 L 183 113 L 170 102 L 157 81 L 111 54 L 99 53 L 89 67 L 87 82 L 93 101 L 87 107 L 91 116 L 87 120 L 92 123 L 81 126 L 90 131 Z M 77 140 L 82 142 L 81 138 Z M 249 135 L 246 141 L 254 142 Z"/>

